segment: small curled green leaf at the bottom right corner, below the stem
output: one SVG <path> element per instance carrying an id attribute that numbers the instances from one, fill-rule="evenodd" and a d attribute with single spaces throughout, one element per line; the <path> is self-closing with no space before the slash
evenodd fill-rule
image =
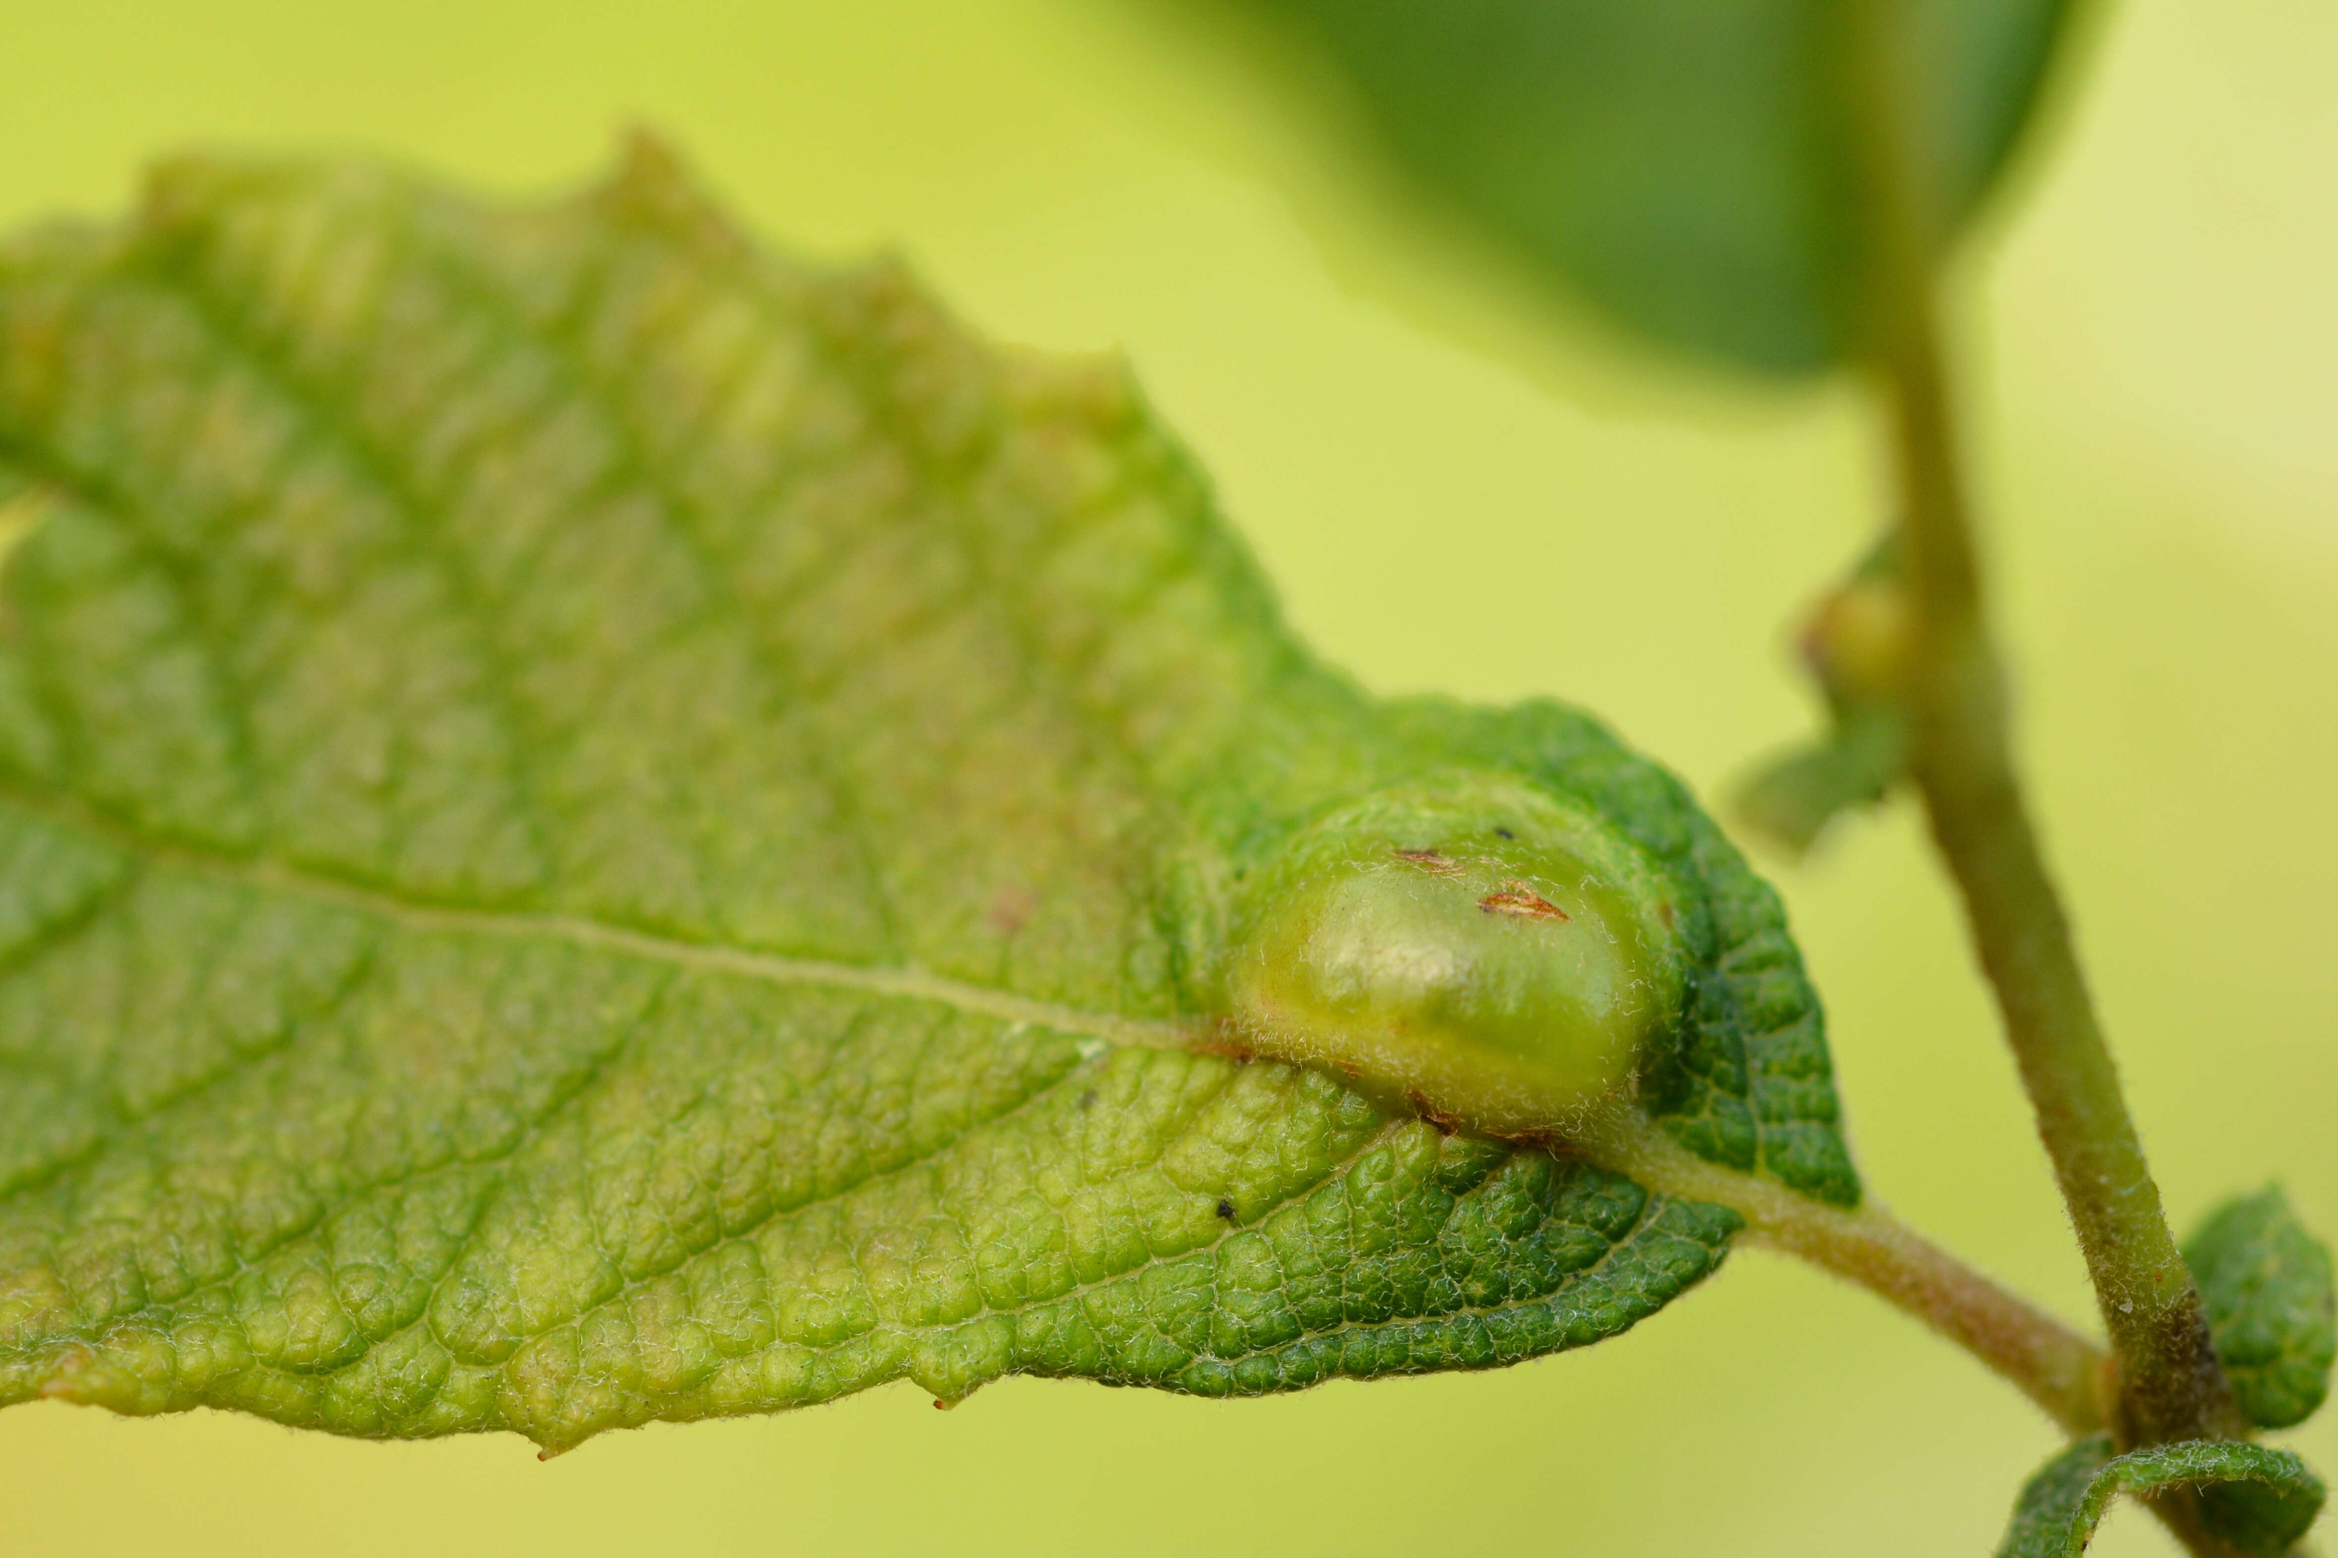
<path id="1" fill-rule="evenodd" d="M 2289 1451 L 2195 1439 L 2111 1453 L 2109 1434 L 2069 1446 L 2022 1483 L 1997 1558 L 2078 1558 L 2121 1493 L 2193 1488 L 2200 1521 L 2244 1553 L 2287 1553 L 2322 1511 L 2322 1479 Z"/>

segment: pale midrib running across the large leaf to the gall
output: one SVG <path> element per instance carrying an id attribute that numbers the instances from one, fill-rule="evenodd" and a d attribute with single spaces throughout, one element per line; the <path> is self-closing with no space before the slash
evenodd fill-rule
<path id="1" fill-rule="evenodd" d="M 865 995 L 891 995 L 898 1000 L 926 1000 L 970 1016 L 989 1016 L 1003 1023 L 1031 1023 L 1033 1028 L 1050 1028 L 1054 1032 L 1106 1046 L 1192 1049 L 1204 1037 L 1202 1023 L 1139 1018 L 1115 1011 L 1085 1011 L 1080 1007 L 1036 1000 L 1031 995 L 1017 995 L 1012 990 L 954 979 L 949 974 L 935 974 L 914 965 L 793 958 L 788 953 L 767 953 L 750 946 L 732 946 L 727 941 L 694 941 L 671 932 L 617 925 L 577 913 L 465 909 L 458 904 L 409 899 L 379 885 L 302 871 L 299 867 L 290 867 L 278 860 L 236 860 L 217 850 L 164 841 L 94 808 L 68 806 L 56 797 L 37 797 L 7 783 L 0 783 L 0 806 L 35 818 L 47 827 L 94 839 L 96 843 L 131 855 L 150 867 L 187 871 L 241 888 L 306 897 L 318 904 L 353 909 L 404 930 L 514 939 L 535 937 L 566 941 L 580 948 L 645 958 L 678 969 L 758 979 L 774 986 L 818 986 L 832 990 L 858 990 Z"/>

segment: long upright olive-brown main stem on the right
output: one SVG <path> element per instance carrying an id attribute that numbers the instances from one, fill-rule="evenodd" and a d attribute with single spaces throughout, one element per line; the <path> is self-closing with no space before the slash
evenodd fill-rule
<path id="1" fill-rule="evenodd" d="M 1849 72 L 1868 147 L 1875 231 L 1873 362 L 1882 378 L 1910 605 L 1910 778 L 1962 897 L 2006 1039 L 2036 1110 L 2062 1201 L 2118 1357 L 2123 1444 L 2237 1437 L 2244 1423 L 2209 1348 L 2200 1296 L 2118 1091 L 2069 923 L 2046 876 L 2006 740 L 2006 712 L 1957 474 L 1934 320 L 1927 178 L 1898 86 L 1896 0 L 1854 5 L 1866 47 Z"/>

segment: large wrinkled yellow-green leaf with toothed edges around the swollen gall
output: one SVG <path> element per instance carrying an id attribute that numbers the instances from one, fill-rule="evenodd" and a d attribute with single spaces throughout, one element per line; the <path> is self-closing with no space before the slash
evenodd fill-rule
<path id="1" fill-rule="evenodd" d="M 1676 780 L 1368 698 L 1118 367 L 655 147 L 524 210 L 194 159 L 21 238 L 0 470 L 0 1401 L 568 1446 L 1613 1336 L 1735 1215 L 1227 1051 L 1244 878 L 1454 775 L 1676 888 L 1672 1135 L 1859 1198 Z"/>

